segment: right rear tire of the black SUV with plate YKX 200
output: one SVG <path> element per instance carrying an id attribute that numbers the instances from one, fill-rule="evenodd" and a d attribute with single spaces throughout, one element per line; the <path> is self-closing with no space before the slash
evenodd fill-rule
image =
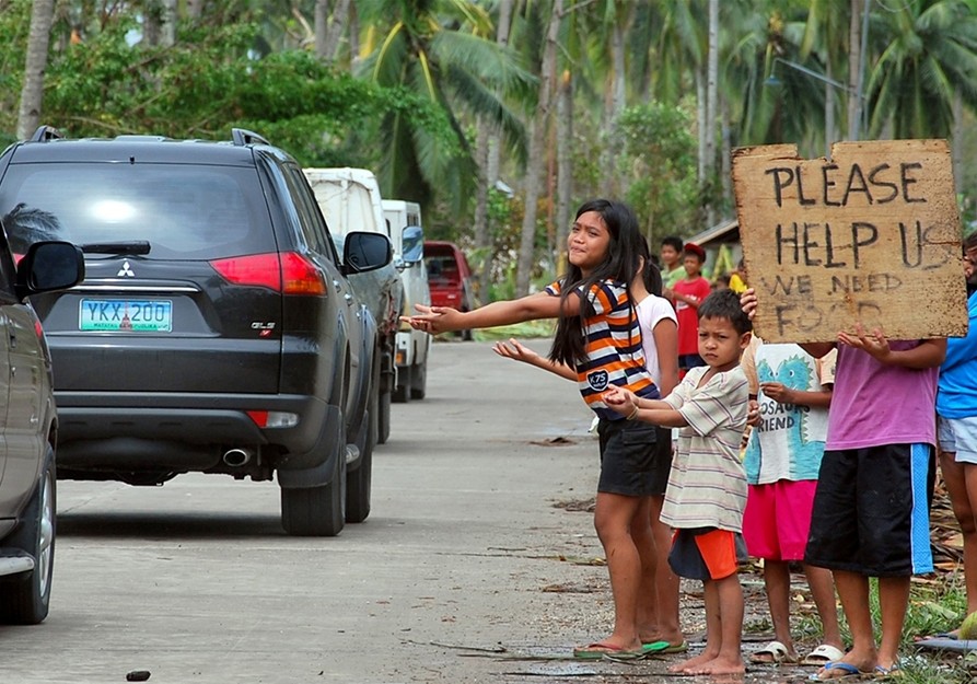
<path id="1" fill-rule="evenodd" d="M 336 536 L 346 524 L 346 434 L 335 449 L 336 466 L 329 484 L 281 489 L 281 526 L 292 536 Z"/>

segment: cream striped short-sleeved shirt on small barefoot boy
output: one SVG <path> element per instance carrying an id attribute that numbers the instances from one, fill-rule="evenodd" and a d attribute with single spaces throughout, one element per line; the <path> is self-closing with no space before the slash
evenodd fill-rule
<path id="1" fill-rule="evenodd" d="M 662 522 L 672 528 L 743 531 L 746 472 L 740 440 L 746 428 L 749 390 L 738 366 L 698 387 L 708 366 L 693 368 L 665 402 L 688 425 L 678 430 Z"/>

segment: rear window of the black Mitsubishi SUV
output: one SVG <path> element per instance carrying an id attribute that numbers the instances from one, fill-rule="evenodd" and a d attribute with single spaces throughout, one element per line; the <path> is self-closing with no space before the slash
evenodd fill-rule
<path id="1" fill-rule="evenodd" d="M 274 252 L 254 169 L 182 164 L 13 164 L 0 217 L 13 252 L 39 240 L 147 240 L 150 259 Z"/>

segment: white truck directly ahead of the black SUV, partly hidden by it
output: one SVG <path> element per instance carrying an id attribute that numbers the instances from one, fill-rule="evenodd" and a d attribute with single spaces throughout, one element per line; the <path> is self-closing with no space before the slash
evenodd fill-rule
<path id="1" fill-rule="evenodd" d="M 394 236 L 387 228 L 381 205 L 380 185 L 372 171 L 349 167 L 302 171 L 312 186 L 339 254 L 342 254 L 342 242 L 347 233 L 352 231 L 380 233 L 391 241 L 392 246 L 403 242 L 399 231 Z M 394 250 L 394 262 L 389 265 L 350 277 L 357 298 L 376 321 L 376 356 L 381 359 L 376 441 L 381 444 L 386 442 L 391 432 L 391 398 L 397 383 L 394 364 L 395 337 L 400 326 L 400 313 L 405 311 L 399 266 L 394 265 L 399 264 L 398 247 Z"/>

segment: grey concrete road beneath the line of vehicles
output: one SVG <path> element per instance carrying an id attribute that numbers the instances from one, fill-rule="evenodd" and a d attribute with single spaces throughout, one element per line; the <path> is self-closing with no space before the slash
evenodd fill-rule
<path id="1" fill-rule="evenodd" d="M 428 398 L 393 407 L 372 514 L 336 538 L 286 536 L 270 483 L 62 482 L 51 614 L 0 629 L 0 681 L 544 683 L 633 668 L 490 652 L 569 654 L 605 634 L 591 515 L 554 506 L 593 494 L 589 421 L 567 381 L 445 343 Z"/>

